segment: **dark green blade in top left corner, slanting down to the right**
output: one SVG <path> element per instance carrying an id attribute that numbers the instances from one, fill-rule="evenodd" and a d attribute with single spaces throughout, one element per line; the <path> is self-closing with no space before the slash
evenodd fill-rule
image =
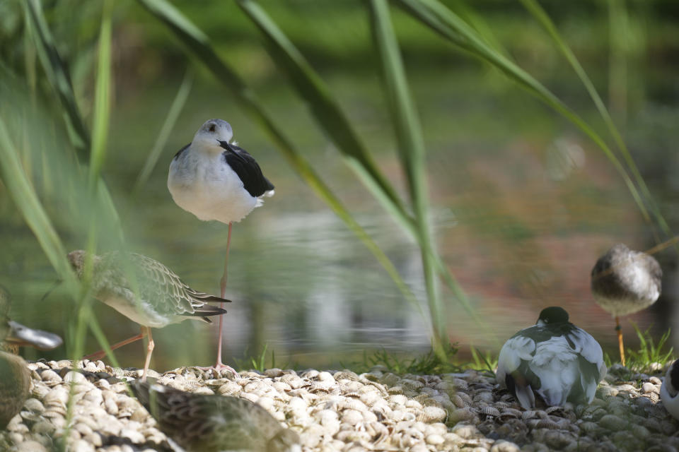
<path id="1" fill-rule="evenodd" d="M 35 48 L 37 49 L 42 69 L 45 70 L 52 88 L 54 88 L 62 107 L 64 107 L 64 121 L 71 138 L 71 143 L 73 143 L 76 153 L 78 153 L 81 160 L 84 160 L 90 147 L 90 136 L 79 113 L 71 76 L 66 71 L 64 61 L 59 57 L 52 32 L 47 27 L 47 21 L 42 14 L 40 0 L 25 0 L 21 2 L 21 5 L 24 8 L 26 17 L 29 19 L 32 30 L 35 32 Z"/>

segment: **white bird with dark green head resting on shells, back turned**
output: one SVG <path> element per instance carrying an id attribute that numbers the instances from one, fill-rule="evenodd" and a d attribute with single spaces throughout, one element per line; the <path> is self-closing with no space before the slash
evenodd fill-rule
<path id="1" fill-rule="evenodd" d="M 606 371 L 599 343 L 570 323 L 565 309 L 548 307 L 504 343 L 496 379 L 528 410 L 535 396 L 549 406 L 590 403 Z"/>

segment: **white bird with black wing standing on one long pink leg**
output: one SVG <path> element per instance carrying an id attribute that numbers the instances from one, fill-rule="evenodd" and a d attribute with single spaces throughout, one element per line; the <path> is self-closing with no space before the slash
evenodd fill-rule
<path id="1" fill-rule="evenodd" d="M 180 208 L 199 220 L 216 220 L 228 225 L 224 275 L 220 281 L 222 298 L 226 295 L 231 225 L 262 206 L 262 198 L 274 194 L 274 185 L 264 177 L 255 158 L 232 140 L 231 124 L 222 119 L 205 121 L 193 141 L 175 155 L 168 174 L 168 189 Z M 219 319 L 214 367 L 231 369 L 221 362 L 221 326 Z"/>

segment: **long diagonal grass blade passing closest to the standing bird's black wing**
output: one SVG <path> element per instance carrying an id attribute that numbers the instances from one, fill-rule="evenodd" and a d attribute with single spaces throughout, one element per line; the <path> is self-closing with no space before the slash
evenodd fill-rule
<path id="1" fill-rule="evenodd" d="M 378 262 L 383 266 L 388 275 L 392 278 L 395 285 L 402 292 L 405 299 L 413 304 L 415 309 L 424 316 L 422 307 L 417 302 L 417 297 L 414 296 L 410 287 L 407 286 L 403 278 L 396 270 L 395 266 L 389 260 L 384 251 L 380 249 L 378 244 L 368 235 L 368 233 L 354 220 L 349 210 L 342 204 L 339 198 L 335 196 L 325 182 L 316 174 L 313 167 L 309 164 L 301 153 L 294 147 L 292 141 L 287 138 L 283 131 L 274 124 L 274 121 L 269 117 L 269 114 L 262 107 L 262 102 L 257 98 L 254 91 L 251 90 L 240 79 L 238 74 L 230 67 L 226 66 L 214 52 L 209 39 L 202 31 L 195 27 L 189 20 L 187 20 L 180 11 L 165 0 L 137 0 L 139 3 L 149 10 L 153 16 L 158 20 L 168 25 L 170 30 L 175 32 L 175 35 L 184 44 L 186 49 L 201 61 L 213 73 L 215 78 L 223 83 L 227 88 L 231 89 L 233 95 L 236 97 L 240 105 L 245 108 L 245 111 L 253 117 L 255 121 L 262 127 L 262 129 L 269 135 L 269 138 L 277 145 L 279 151 L 283 154 L 288 164 L 295 169 L 297 174 L 309 185 L 315 194 L 323 199 L 327 206 L 329 206 L 335 215 L 349 227 L 349 230 L 359 237 L 361 242 L 372 252 Z"/>

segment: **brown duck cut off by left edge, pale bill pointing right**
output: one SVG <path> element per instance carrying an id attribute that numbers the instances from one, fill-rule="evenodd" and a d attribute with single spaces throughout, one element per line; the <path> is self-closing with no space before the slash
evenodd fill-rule
<path id="1" fill-rule="evenodd" d="M 9 320 L 9 293 L 0 287 L 0 341 L 4 350 L 17 352 L 18 347 L 32 345 L 51 350 L 62 345 L 62 338 L 46 331 L 33 330 Z M 23 407 L 30 395 L 30 371 L 22 357 L 0 351 L 0 429 Z"/>

